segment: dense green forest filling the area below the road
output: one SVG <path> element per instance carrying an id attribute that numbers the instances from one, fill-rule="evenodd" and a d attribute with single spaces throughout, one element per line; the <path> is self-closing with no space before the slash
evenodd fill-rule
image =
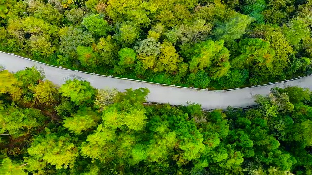
<path id="1" fill-rule="evenodd" d="M 308 89 L 272 89 L 258 107 L 224 113 L 43 78 L 0 71 L 1 175 L 312 175 Z"/>

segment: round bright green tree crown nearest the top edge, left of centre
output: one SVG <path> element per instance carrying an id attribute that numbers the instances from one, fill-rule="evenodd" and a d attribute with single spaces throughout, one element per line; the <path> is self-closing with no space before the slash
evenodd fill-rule
<path id="1" fill-rule="evenodd" d="M 99 14 L 92 14 L 84 17 L 81 24 L 96 37 L 106 36 L 107 32 L 110 30 L 107 21 L 105 21 Z"/>

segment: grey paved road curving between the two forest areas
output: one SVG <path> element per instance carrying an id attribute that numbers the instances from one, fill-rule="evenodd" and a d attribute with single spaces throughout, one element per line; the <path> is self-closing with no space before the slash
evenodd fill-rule
<path id="1" fill-rule="evenodd" d="M 150 90 L 150 94 L 147 97 L 148 102 L 169 103 L 171 105 L 186 105 L 187 102 L 194 102 L 201 104 L 203 109 L 226 109 L 228 106 L 234 108 L 252 106 L 255 105 L 253 95 L 267 95 L 273 87 L 283 88 L 285 86 L 297 85 L 312 89 L 312 76 L 270 85 L 226 91 L 179 88 L 61 69 L 3 52 L 0 52 L 0 65 L 11 72 L 23 70 L 26 67 L 37 66 L 44 70 L 46 79 L 57 85 L 63 84 L 65 82 L 64 78 L 74 74 L 89 81 L 93 87 L 98 89 L 116 88 L 123 91 L 127 88 L 148 88 Z"/>

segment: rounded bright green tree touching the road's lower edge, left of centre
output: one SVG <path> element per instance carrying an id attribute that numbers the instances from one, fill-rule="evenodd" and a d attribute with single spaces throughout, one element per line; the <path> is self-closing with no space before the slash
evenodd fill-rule
<path id="1" fill-rule="evenodd" d="M 76 105 L 88 105 L 92 103 L 96 89 L 87 81 L 79 81 L 78 79 L 67 80 L 59 88 L 62 96 L 70 98 Z"/>

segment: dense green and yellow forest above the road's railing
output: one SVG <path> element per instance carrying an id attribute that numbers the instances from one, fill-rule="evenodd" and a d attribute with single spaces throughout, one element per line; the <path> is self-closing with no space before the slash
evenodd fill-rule
<path id="1" fill-rule="evenodd" d="M 99 74 L 237 88 L 311 73 L 312 0 L 1 0 L 0 50 Z"/>

